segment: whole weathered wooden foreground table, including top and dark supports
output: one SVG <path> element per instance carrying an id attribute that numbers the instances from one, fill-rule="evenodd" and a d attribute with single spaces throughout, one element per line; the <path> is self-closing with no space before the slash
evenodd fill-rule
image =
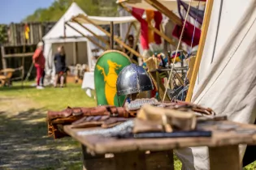
<path id="1" fill-rule="evenodd" d="M 202 146 L 209 148 L 210 169 L 241 170 L 238 145 L 256 143 L 256 125 L 207 121 L 198 123 L 197 129 L 212 130 L 212 137 L 116 139 L 102 135 L 80 136 L 77 132 L 89 129 L 64 126 L 67 134 L 81 142 L 87 170 L 174 169 L 173 149 Z M 114 156 L 105 158 L 108 153 Z"/>

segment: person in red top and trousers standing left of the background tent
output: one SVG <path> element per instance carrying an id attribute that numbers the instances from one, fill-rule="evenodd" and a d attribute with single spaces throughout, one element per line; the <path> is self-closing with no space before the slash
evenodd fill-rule
<path id="1" fill-rule="evenodd" d="M 37 44 L 37 49 L 35 53 L 33 54 L 33 64 L 37 69 L 37 89 L 44 88 L 40 85 L 40 80 L 42 79 L 43 72 L 45 69 L 45 63 L 46 63 L 46 59 L 43 54 L 43 49 L 44 49 L 44 43 L 40 41 Z"/>

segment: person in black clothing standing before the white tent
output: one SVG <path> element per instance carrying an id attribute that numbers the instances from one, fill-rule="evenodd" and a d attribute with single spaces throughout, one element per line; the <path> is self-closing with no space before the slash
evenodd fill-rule
<path id="1" fill-rule="evenodd" d="M 65 73 L 67 71 L 66 66 L 66 54 L 63 46 L 58 48 L 58 53 L 54 56 L 54 64 L 55 64 L 55 80 L 54 80 L 54 87 L 57 87 L 58 81 L 60 79 L 60 87 L 63 87 L 65 81 Z"/>

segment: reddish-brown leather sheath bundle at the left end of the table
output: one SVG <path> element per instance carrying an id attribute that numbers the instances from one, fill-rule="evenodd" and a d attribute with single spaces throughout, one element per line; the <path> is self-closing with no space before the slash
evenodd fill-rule
<path id="1" fill-rule="evenodd" d="M 72 128 L 89 128 L 102 126 L 108 128 L 134 117 L 125 108 L 109 105 L 93 108 L 70 108 L 63 111 L 49 111 L 47 113 L 48 134 L 54 138 L 63 138 L 67 134 L 63 130 L 64 125 L 72 125 Z"/>

